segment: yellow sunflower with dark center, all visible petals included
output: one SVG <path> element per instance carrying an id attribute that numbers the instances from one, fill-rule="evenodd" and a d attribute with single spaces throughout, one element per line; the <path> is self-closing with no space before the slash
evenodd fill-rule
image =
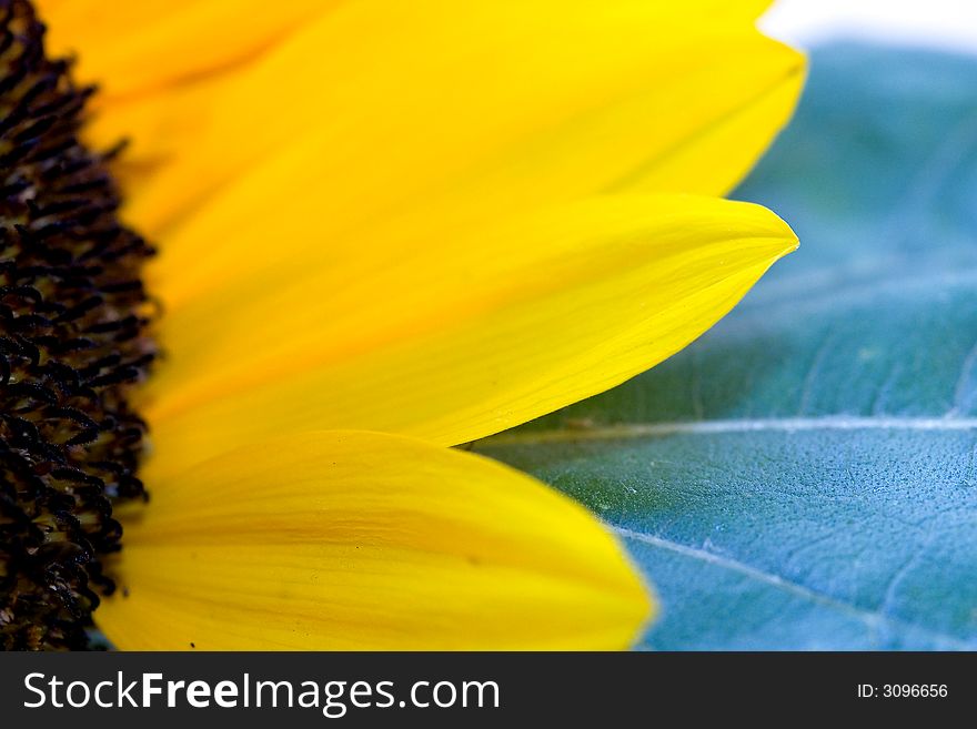
<path id="1" fill-rule="evenodd" d="M 73 61 L 0 1 L 4 645 L 98 606 L 123 649 L 628 646 L 603 526 L 445 446 L 653 366 L 796 246 L 717 198 L 802 85 L 766 3 L 37 4 Z"/>

